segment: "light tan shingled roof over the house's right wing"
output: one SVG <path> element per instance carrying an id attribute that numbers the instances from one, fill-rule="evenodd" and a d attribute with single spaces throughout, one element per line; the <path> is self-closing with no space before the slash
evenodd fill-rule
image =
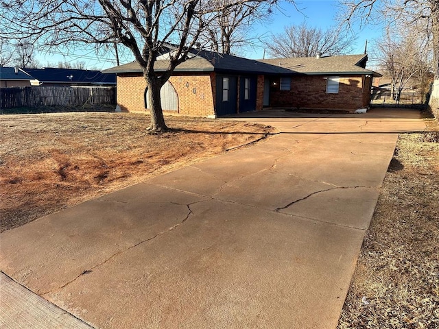
<path id="1" fill-rule="evenodd" d="M 297 58 L 273 58 L 261 60 L 261 62 L 276 65 L 307 75 L 337 75 L 337 74 L 370 74 L 380 77 L 381 74 L 365 68 L 366 54 L 343 55 L 329 57 L 297 57 Z"/>

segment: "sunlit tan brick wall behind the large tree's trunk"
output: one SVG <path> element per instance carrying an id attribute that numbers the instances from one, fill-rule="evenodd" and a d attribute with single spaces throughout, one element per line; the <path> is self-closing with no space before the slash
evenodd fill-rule
<path id="1" fill-rule="evenodd" d="M 215 114 L 212 81 L 215 81 L 213 73 L 176 73 L 171 76 L 169 82 L 178 95 L 178 113 L 200 117 Z M 117 76 L 117 103 L 121 110 L 145 111 L 145 88 L 141 73 L 120 73 Z"/>

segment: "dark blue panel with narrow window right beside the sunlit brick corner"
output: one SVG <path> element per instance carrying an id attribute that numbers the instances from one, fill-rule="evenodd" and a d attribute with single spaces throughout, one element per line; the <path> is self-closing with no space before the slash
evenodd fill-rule
<path id="1" fill-rule="evenodd" d="M 217 116 L 237 112 L 237 78 L 231 75 L 217 75 Z"/>

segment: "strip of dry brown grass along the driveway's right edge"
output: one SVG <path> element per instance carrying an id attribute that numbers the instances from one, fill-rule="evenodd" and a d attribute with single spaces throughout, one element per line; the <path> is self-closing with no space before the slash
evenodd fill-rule
<path id="1" fill-rule="evenodd" d="M 438 132 L 399 137 L 338 328 L 439 328 Z"/>

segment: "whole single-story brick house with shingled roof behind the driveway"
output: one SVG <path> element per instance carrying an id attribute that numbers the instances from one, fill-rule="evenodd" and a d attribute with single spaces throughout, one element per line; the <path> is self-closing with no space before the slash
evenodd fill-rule
<path id="1" fill-rule="evenodd" d="M 250 60 L 194 51 L 178 65 L 161 90 L 165 112 L 200 117 L 261 110 L 263 107 L 357 110 L 370 104 L 372 77 L 367 55 Z M 165 71 L 157 60 L 154 70 Z M 137 62 L 103 73 L 117 73 L 117 103 L 123 111 L 148 109 L 147 88 Z"/>

